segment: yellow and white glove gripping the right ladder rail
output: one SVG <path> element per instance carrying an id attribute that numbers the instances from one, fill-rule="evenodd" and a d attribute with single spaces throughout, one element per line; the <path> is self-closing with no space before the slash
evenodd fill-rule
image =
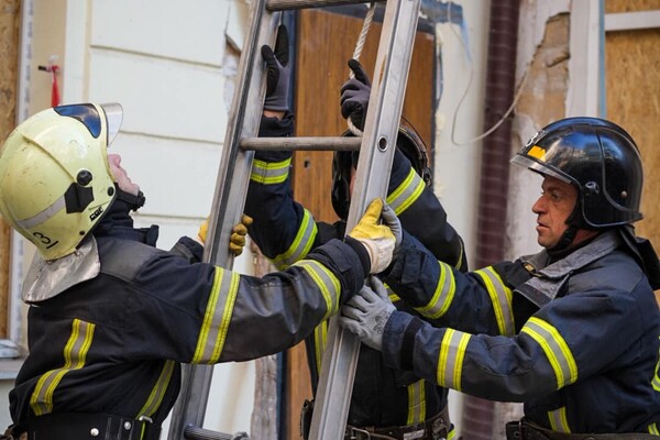
<path id="1" fill-rule="evenodd" d="M 360 241 L 366 249 L 371 262 L 370 274 L 383 272 L 389 265 L 397 245 L 395 231 L 398 230 L 399 244 L 403 235 L 398 218 L 392 208 L 387 210 L 383 205 L 383 200 L 380 198 L 372 200 L 364 216 L 349 232 L 349 237 Z M 383 212 L 386 216 L 383 217 L 386 224 L 378 224 L 378 218 Z"/>

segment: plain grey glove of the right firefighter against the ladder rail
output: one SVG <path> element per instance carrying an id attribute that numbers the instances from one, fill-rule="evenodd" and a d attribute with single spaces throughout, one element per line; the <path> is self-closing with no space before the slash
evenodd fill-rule
<path id="1" fill-rule="evenodd" d="M 339 323 L 372 349 L 383 351 L 385 324 L 396 307 L 378 278 L 370 276 L 370 284 L 371 288 L 365 285 L 341 307 Z"/>

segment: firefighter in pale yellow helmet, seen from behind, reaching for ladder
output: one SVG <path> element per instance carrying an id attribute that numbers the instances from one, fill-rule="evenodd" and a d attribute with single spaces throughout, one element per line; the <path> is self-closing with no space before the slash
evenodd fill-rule
<path id="1" fill-rule="evenodd" d="M 0 152 L 0 212 L 37 250 L 8 436 L 157 439 L 180 363 L 296 344 L 387 266 L 400 235 L 376 199 L 344 241 L 264 278 L 201 262 L 189 238 L 158 250 L 157 227 L 133 228 L 140 187 L 107 151 L 121 120 L 118 105 L 56 107 L 21 123 Z M 381 211 L 392 230 L 377 224 Z"/>

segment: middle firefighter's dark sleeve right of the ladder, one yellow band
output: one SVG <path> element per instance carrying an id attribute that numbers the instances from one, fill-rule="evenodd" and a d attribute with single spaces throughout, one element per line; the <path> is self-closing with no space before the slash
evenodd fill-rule
<path id="1" fill-rule="evenodd" d="M 462 271 L 468 270 L 463 241 L 447 221 L 447 212 L 410 161 L 397 148 L 394 155 L 387 202 L 402 226 L 436 257 Z"/>

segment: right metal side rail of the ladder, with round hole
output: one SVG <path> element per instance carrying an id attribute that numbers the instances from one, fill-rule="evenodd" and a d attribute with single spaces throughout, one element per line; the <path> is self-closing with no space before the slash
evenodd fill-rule
<path id="1" fill-rule="evenodd" d="M 387 194 L 419 7 L 420 0 L 402 0 L 388 1 L 385 9 L 346 231 L 355 226 L 373 198 L 384 198 Z M 374 169 L 386 173 L 373 173 Z M 343 439 L 359 354 L 359 339 L 341 329 L 338 318 L 333 317 L 323 352 L 310 439 Z"/>

